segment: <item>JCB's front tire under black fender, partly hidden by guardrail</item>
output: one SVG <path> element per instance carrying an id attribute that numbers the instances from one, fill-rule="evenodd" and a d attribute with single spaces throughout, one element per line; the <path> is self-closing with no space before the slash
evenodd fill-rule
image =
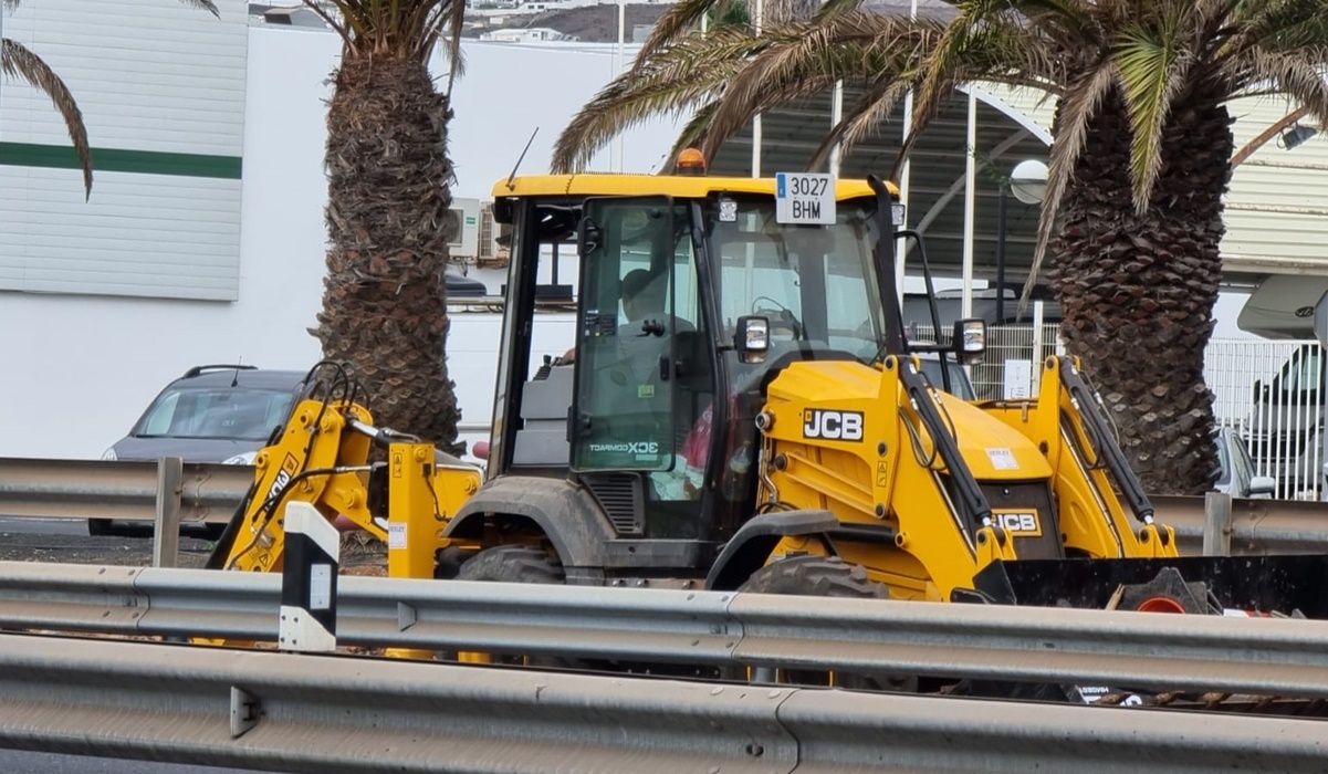
<path id="1" fill-rule="evenodd" d="M 834 596 L 843 599 L 888 599 L 890 589 L 871 580 L 867 568 L 849 564 L 838 556 L 793 556 L 766 564 L 738 587 L 738 593 L 778 593 Z M 851 690 L 894 690 L 915 693 L 916 677 L 853 672 L 784 669 L 782 681 L 797 685 L 830 685 Z M 742 676 L 738 676 L 742 677 Z"/>

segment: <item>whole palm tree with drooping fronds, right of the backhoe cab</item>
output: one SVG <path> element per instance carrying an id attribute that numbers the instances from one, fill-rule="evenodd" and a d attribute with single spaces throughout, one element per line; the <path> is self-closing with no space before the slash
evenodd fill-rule
<path id="1" fill-rule="evenodd" d="M 710 0 L 683 0 L 635 69 L 559 138 L 574 169 L 623 126 L 695 110 L 684 142 L 708 154 L 754 113 L 835 80 L 866 96 L 835 143 L 874 131 L 908 89 L 911 134 L 955 85 L 1035 86 L 1057 100 L 1042 255 L 1062 336 L 1096 378 L 1145 486 L 1199 493 L 1216 473 L 1203 349 L 1222 259 L 1231 173 L 1227 104 L 1286 94 L 1328 122 L 1328 0 L 968 0 L 942 24 L 830 0 L 810 23 L 726 36 L 691 31 Z M 904 153 L 910 142 L 904 143 Z"/>

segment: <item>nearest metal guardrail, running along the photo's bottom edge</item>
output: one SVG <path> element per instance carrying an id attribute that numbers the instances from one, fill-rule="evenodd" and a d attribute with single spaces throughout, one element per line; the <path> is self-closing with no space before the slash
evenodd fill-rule
<path id="1" fill-rule="evenodd" d="M 317 774 L 1321 771 L 1319 721 L 0 635 L 0 746 Z"/>

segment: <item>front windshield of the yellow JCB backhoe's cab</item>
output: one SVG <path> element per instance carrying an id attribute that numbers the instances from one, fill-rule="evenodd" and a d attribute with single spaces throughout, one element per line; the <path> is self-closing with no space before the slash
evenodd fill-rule
<path id="1" fill-rule="evenodd" d="M 710 251 L 724 324 L 732 332 L 738 317 L 766 317 L 770 360 L 817 350 L 867 360 L 880 348 L 875 202 L 835 210 L 831 224 L 791 226 L 776 220 L 770 199 L 717 202 Z"/>

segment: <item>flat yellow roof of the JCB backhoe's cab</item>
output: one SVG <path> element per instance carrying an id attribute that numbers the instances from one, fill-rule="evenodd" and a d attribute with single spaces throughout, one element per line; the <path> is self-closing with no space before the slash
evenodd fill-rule
<path id="1" fill-rule="evenodd" d="M 899 195 L 894 183 L 890 193 Z M 494 183 L 494 199 L 525 196 L 673 196 L 676 199 L 704 199 L 710 194 L 765 194 L 774 195 L 774 178 L 716 178 L 706 175 L 635 175 L 635 174 L 576 174 L 529 175 Z M 871 196 L 871 187 L 863 179 L 835 182 L 835 199 Z"/>

